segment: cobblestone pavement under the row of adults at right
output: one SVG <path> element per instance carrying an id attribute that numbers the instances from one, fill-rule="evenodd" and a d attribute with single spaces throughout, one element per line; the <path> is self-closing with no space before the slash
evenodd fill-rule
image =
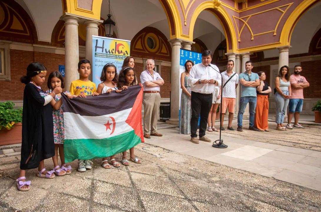
<path id="1" fill-rule="evenodd" d="M 224 121 L 227 128 L 227 121 Z M 304 129 L 293 128 L 285 131 L 276 130 L 276 123 L 269 121 L 270 132 L 256 132 L 248 130 L 248 120 L 243 120 L 243 132 L 238 131 L 222 131 L 222 136 L 249 139 L 269 144 L 279 144 L 283 146 L 292 146 L 297 148 L 305 148 L 310 150 L 321 151 L 321 125 L 304 125 Z M 216 122 L 216 128 L 220 125 Z M 285 126 L 285 124 L 284 124 Z M 237 129 L 237 120 L 233 120 L 232 127 Z M 207 132 L 206 134 L 219 134 L 219 132 Z"/>

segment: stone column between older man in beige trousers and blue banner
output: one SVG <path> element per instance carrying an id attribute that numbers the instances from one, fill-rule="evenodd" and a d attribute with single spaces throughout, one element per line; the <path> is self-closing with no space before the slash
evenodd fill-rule
<path id="1" fill-rule="evenodd" d="M 171 61 L 171 83 L 170 83 L 170 119 L 167 121 L 169 124 L 178 125 L 179 122 L 179 51 L 181 48 L 182 40 L 173 39 L 169 40 L 172 46 L 172 61 Z M 189 45 L 186 44 L 190 48 Z"/>

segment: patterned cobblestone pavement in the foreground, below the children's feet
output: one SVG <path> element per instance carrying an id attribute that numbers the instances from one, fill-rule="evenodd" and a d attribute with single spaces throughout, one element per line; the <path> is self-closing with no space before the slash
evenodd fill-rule
<path id="1" fill-rule="evenodd" d="M 0 211 L 321 211 L 315 190 L 148 144 L 138 145 L 135 155 L 142 164 L 103 169 L 96 159 L 82 173 L 74 161 L 71 175 L 50 180 L 29 170 L 28 192 L 15 186 L 20 156 L 1 157 Z M 53 168 L 51 159 L 45 167 Z"/>

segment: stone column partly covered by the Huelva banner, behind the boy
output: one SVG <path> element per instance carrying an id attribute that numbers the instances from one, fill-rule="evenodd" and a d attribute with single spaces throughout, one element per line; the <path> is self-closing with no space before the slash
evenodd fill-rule
<path id="1" fill-rule="evenodd" d="M 98 25 L 100 24 L 100 22 L 102 21 L 88 20 L 84 22 L 84 24 L 86 24 L 86 59 L 90 60 L 91 64 L 92 64 L 92 36 L 93 35 L 98 36 Z M 89 76 L 89 79 L 92 81 L 92 69 L 91 69 L 91 75 Z"/>

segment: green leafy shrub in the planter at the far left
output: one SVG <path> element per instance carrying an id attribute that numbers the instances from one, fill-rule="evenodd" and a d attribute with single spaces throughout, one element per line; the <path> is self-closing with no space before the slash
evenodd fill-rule
<path id="1" fill-rule="evenodd" d="M 15 123 L 22 122 L 22 108 L 13 109 L 13 102 L 0 103 L 0 129 L 13 128 Z"/>

